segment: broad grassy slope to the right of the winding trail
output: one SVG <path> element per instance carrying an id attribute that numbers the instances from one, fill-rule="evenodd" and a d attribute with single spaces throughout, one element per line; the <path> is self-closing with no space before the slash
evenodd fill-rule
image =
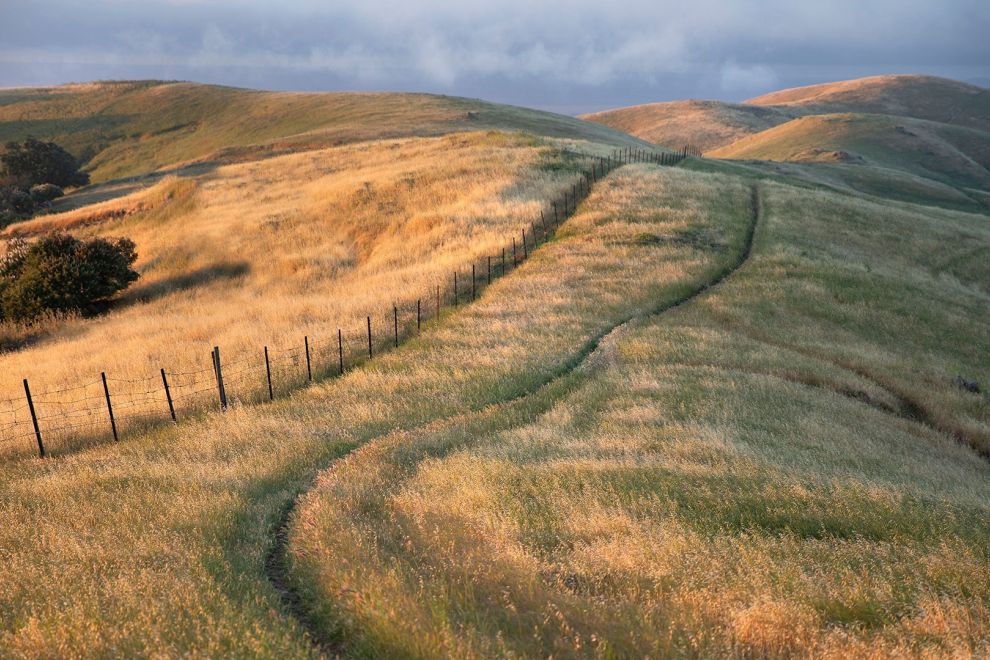
<path id="1" fill-rule="evenodd" d="M 739 179 L 647 181 L 715 206 L 625 196 L 613 222 L 738 231 Z M 358 656 L 990 652 L 990 402 L 952 382 L 990 381 L 985 218 L 760 187 L 717 288 L 321 474 L 289 548 L 324 634 Z"/>

